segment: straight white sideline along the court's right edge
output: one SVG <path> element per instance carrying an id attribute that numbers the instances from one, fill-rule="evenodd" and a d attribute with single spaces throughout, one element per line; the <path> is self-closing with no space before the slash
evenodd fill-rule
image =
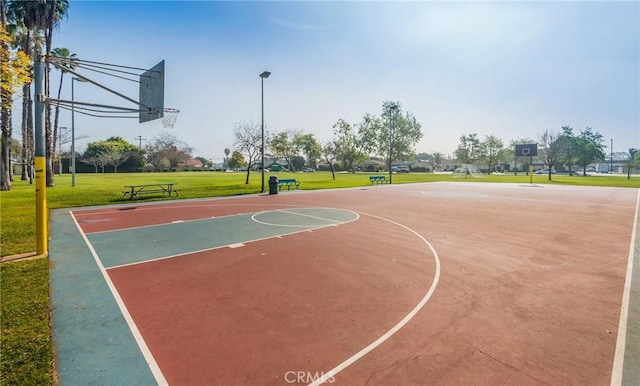
<path id="1" fill-rule="evenodd" d="M 638 230 L 638 207 L 640 207 L 640 190 L 638 190 L 638 198 L 636 199 L 636 213 L 633 217 L 633 228 L 631 230 L 631 243 L 629 245 L 629 259 L 627 262 L 627 275 L 624 279 L 622 305 L 620 306 L 620 322 L 618 324 L 616 354 L 613 359 L 613 370 L 611 371 L 611 386 L 622 385 L 622 373 L 624 371 L 624 354 L 627 344 L 627 322 L 629 320 L 631 278 L 633 276 L 633 255 L 635 251 L 636 235 Z"/>

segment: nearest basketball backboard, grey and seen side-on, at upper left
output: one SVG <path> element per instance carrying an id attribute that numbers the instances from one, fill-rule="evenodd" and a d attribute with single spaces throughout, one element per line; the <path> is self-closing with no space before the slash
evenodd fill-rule
<path id="1" fill-rule="evenodd" d="M 140 123 L 164 115 L 164 60 L 140 75 Z"/>

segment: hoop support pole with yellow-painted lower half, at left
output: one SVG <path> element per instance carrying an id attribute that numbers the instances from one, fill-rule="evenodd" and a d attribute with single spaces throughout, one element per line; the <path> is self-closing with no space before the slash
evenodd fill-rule
<path id="1" fill-rule="evenodd" d="M 49 250 L 47 241 L 47 153 L 45 151 L 44 130 L 44 63 L 41 61 L 40 51 L 34 53 L 33 84 L 35 87 L 34 101 L 34 145 L 36 167 L 36 253 L 46 255 Z"/>

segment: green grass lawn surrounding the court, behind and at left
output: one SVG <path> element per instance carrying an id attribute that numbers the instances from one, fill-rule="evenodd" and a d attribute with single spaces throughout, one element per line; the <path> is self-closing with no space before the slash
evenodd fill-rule
<path id="1" fill-rule="evenodd" d="M 297 178 L 303 190 L 336 189 L 369 186 L 369 175 L 384 173 L 337 173 L 334 180 L 329 172 L 275 173 L 279 178 Z M 514 176 L 491 175 L 481 179 L 453 178 L 451 174 L 408 173 L 394 174 L 394 184 L 467 181 L 529 183 L 524 174 Z M 56 176 L 56 186 L 47 188 L 49 209 L 110 205 L 122 200 L 124 185 L 156 182 L 175 182 L 179 199 L 256 194 L 261 191 L 260 173 L 252 173 L 245 184 L 245 173 L 180 172 L 180 173 L 122 173 L 77 174 L 76 186 L 71 176 Z M 265 174 L 268 191 L 269 174 Z M 620 176 L 569 177 L 534 175 L 535 184 L 587 185 L 640 188 L 640 176 L 631 180 Z M 167 200 L 167 197 L 144 197 L 140 201 Z M 175 200 L 176 198 L 170 198 Z M 0 192 L 0 252 L 2 256 L 35 251 L 35 185 L 15 181 L 12 189 Z M 49 327 L 48 260 L 16 261 L 0 265 L 0 320 L 2 339 L 0 356 L 0 385 L 51 384 L 52 347 Z"/>

